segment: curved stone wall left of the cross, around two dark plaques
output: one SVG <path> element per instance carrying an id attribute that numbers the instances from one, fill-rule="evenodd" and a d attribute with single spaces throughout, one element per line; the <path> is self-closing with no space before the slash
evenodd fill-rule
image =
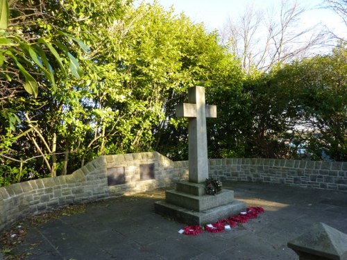
<path id="1" fill-rule="evenodd" d="M 153 180 L 140 180 L 141 164 L 154 164 Z M 124 184 L 108 185 L 108 170 L 112 167 L 124 167 Z M 26 216 L 69 204 L 158 189 L 187 176 L 187 162 L 172 162 L 156 152 L 101 156 L 71 175 L 0 187 L 0 231 Z"/>

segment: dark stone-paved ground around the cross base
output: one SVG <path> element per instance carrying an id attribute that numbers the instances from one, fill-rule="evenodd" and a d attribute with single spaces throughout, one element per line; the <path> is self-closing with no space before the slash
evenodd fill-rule
<path id="1" fill-rule="evenodd" d="M 323 222 L 347 234 L 347 193 L 224 183 L 235 198 L 265 209 L 260 218 L 221 234 L 178 234 L 185 225 L 153 212 L 164 191 L 87 205 L 85 213 L 29 227 L 17 252 L 27 259 L 298 259 L 287 248 Z"/>

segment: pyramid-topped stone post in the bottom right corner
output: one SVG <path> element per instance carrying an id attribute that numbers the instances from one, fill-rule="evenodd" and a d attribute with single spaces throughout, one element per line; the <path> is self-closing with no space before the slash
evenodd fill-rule
<path id="1" fill-rule="evenodd" d="M 288 242 L 300 260 L 347 260 L 347 235 L 324 223 L 318 223 Z"/>

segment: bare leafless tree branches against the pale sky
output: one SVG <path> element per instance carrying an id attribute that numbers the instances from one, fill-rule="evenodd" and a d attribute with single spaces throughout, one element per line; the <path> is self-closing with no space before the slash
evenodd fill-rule
<path id="1" fill-rule="evenodd" d="M 330 42 L 331 34 L 321 25 L 303 28 L 300 19 L 304 13 L 305 8 L 296 1 L 282 1 L 278 12 L 248 7 L 239 20 L 228 21 L 222 37 L 242 60 L 245 71 L 252 67 L 267 71 L 275 64 L 306 57 Z"/>

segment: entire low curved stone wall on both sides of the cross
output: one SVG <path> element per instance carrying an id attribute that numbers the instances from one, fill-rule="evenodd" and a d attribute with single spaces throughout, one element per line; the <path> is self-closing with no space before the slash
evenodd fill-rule
<path id="1" fill-rule="evenodd" d="M 148 175 L 143 173 L 146 169 Z M 109 181 L 112 173 L 120 176 L 115 183 Z M 210 159 L 209 175 L 221 181 L 347 192 L 346 162 Z M 169 187 L 187 178 L 187 161 L 173 162 L 156 152 L 101 156 L 71 175 L 0 187 L 0 230 L 16 220 L 57 207 Z"/>

